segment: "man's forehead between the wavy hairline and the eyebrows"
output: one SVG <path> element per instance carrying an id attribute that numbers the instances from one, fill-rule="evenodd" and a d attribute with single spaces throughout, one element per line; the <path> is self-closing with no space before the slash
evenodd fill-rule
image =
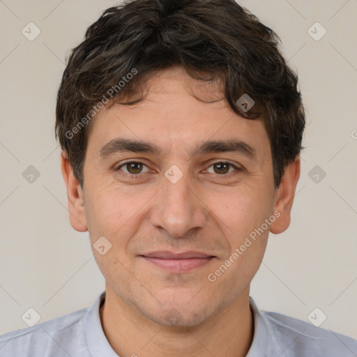
<path id="1" fill-rule="evenodd" d="M 162 154 L 193 153 L 208 140 L 227 139 L 247 144 L 258 155 L 270 153 L 264 123 L 235 114 L 219 81 L 199 82 L 181 68 L 169 68 L 153 75 L 146 91 L 135 105 L 112 105 L 97 114 L 88 141 L 96 156 L 117 137 L 151 142 Z"/>

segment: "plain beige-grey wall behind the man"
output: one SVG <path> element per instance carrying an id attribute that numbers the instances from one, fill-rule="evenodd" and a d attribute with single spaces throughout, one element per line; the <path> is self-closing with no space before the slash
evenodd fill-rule
<path id="1" fill-rule="evenodd" d="M 357 1 L 238 2 L 280 36 L 307 116 L 291 226 L 271 234 L 250 295 L 305 321 L 318 307 L 321 327 L 357 339 Z M 0 333 L 26 327 L 29 307 L 42 322 L 105 289 L 88 233 L 68 220 L 54 108 L 66 55 L 117 3 L 0 1 Z"/>

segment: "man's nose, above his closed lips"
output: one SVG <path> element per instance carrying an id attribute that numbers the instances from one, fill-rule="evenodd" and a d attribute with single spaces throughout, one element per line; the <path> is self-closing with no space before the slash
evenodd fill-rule
<path id="1" fill-rule="evenodd" d="M 190 229 L 204 227 L 206 218 L 204 199 L 195 190 L 188 174 L 183 174 L 176 183 L 162 177 L 161 190 L 155 195 L 151 210 L 154 227 L 165 229 L 171 236 L 179 238 Z"/>

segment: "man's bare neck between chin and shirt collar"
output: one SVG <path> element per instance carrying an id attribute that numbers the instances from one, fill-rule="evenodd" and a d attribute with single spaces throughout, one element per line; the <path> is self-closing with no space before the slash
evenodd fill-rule
<path id="1" fill-rule="evenodd" d="M 190 327 L 162 326 L 106 289 L 100 307 L 102 328 L 119 356 L 244 357 L 254 335 L 249 306 L 249 287 L 238 299 L 207 319 Z"/>

